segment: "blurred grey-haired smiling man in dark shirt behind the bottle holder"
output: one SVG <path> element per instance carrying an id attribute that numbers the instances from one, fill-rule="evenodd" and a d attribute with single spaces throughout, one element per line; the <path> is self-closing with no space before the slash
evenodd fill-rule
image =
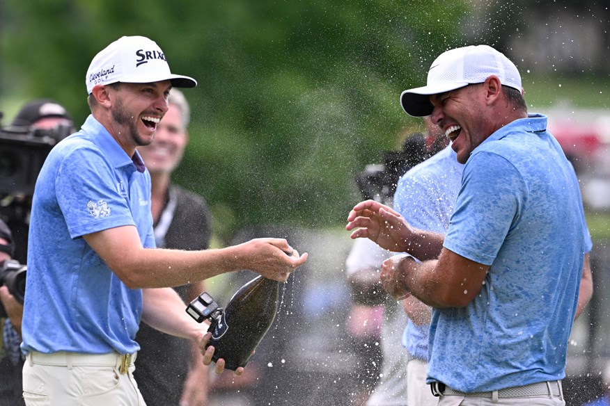
<path id="1" fill-rule="evenodd" d="M 205 250 L 210 244 L 210 212 L 202 197 L 171 183 L 189 140 L 190 108 L 178 89 L 169 92 L 168 110 L 155 140 L 138 147 L 152 184 L 151 209 L 158 248 Z M 203 281 L 174 288 L 186 305 L 205 291 Z M 203 406 L 208 398 L 208 367 L 191 342 L 141 323 L 134 373 L 148 406 Z"/>

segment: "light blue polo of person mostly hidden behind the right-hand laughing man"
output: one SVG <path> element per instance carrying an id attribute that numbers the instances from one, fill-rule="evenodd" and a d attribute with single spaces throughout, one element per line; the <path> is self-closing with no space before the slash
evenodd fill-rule
<path id="1" fill-rule="evenodd" d="M 448 145 L 402 175 L 394 193 L 394 209 L 416 228 L 445 234 L 462 184 L 463 168 Z M 402 346 L 409 355 L 428 361 L 429 329 L 428 324 L 415 325 L 407 319 Z"/>

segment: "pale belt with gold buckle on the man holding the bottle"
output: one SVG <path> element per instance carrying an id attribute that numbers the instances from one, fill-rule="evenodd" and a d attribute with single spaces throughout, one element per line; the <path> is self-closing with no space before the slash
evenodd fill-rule
<path id="1" fill-rule="evenodd" d="M 109 352 L 107 354 L 82 354 L 80 352 L 58 351 L 44 354 L 31 351 L 27 355 L 30 364 L 50 366 L 116 366 L 120 373 L 127 373 L 130 366 L 136 362 L 137 352 L 133 354 L 119 354 Z"/>

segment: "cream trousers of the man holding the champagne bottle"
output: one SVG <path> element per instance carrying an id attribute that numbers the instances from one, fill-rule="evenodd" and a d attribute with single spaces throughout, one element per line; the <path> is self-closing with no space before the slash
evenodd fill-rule
<path id="1" fill-rule="evenodd" d="M 27 406 L 146 406 L 133 362 L 119 354 L 30 352 L 23 368 Z M 121 373 L 123 372 L 123 373 Z"/>

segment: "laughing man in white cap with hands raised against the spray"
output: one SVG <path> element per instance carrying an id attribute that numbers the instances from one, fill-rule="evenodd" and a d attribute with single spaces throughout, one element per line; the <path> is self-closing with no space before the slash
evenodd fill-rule
<path id="1" fill-rule="evenodd" d="M 451 49 L 402 107 L 430 115 L 464 163 L 446 234 L 366 201 L 352 238 L 394 252 L 384 288 L 433 308 L 427 382 L 439 405 L 565 405 L 561 379 L 591 238 L 578 181 L 517 67 L 492 47 Z"/>

